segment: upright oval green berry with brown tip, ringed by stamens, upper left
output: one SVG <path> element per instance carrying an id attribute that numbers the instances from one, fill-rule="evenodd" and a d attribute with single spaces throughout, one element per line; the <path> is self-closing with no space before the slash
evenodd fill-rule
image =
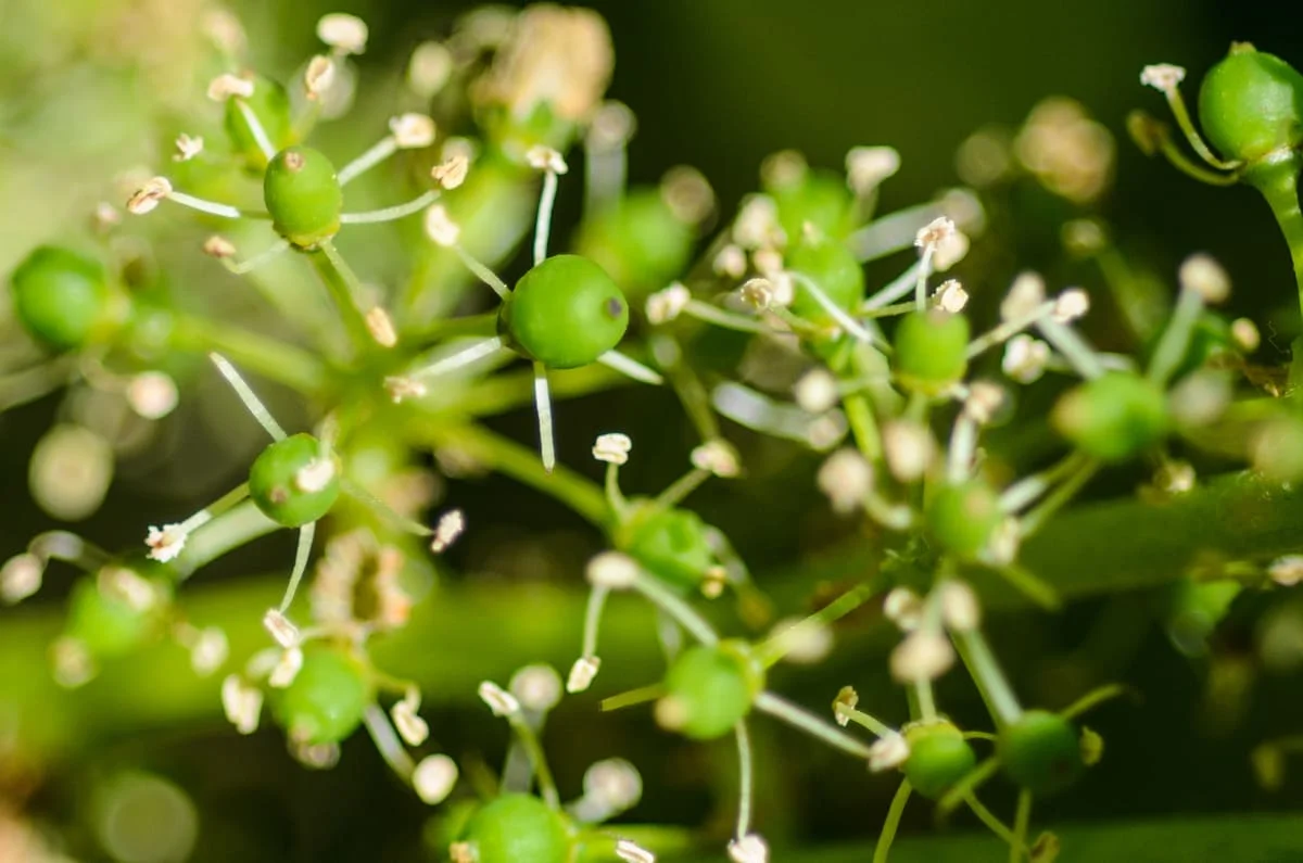
<path id="1" fill-rule="evenodd" d="M 335 166 L 311 147 L 278 153 L 262 180 L 262 196 L 272 227 L 300 249 L 310 249 L 339 233 L 344 190 Z"/>

